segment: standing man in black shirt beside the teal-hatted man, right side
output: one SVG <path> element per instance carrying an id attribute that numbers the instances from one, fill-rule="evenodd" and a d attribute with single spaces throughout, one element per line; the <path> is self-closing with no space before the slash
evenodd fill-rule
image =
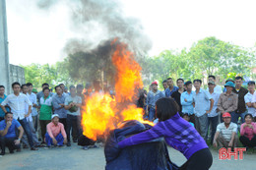
<path id="1" fill-rule="evenodd" d="M 235 110 L 235 113 L 231 113 L 231 121 L 236 124 L 239 117 L 241 118 L 242 123 L 244 123 L 244 116 L 247 113 L 244 95 L 248 93 L 248 90 L 242 87 L 242 80 L 242 77 L 236 77 L 234 81 L 235 89 L 233 89 L 233 92 L 238 94 L 238 106 L 237 110 Z"/>

